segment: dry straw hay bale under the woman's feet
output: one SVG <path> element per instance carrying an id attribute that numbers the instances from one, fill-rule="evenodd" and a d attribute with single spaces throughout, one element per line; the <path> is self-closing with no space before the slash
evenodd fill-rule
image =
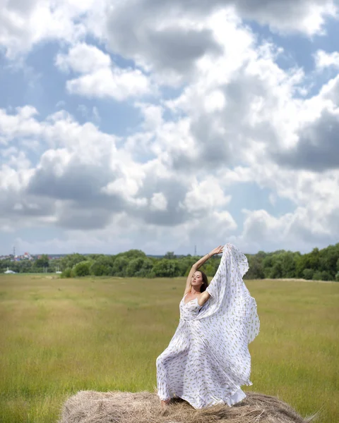
<path id="1" fill-rule="evenodd" d="M 59 423 L 309 423 L 317 415 L 303 418 L 278 398 L 254 392 L 232 407 L 195 410 L 174 398 L 162 410 L 156 393 L 79 391 L 64 403 Z"/>

